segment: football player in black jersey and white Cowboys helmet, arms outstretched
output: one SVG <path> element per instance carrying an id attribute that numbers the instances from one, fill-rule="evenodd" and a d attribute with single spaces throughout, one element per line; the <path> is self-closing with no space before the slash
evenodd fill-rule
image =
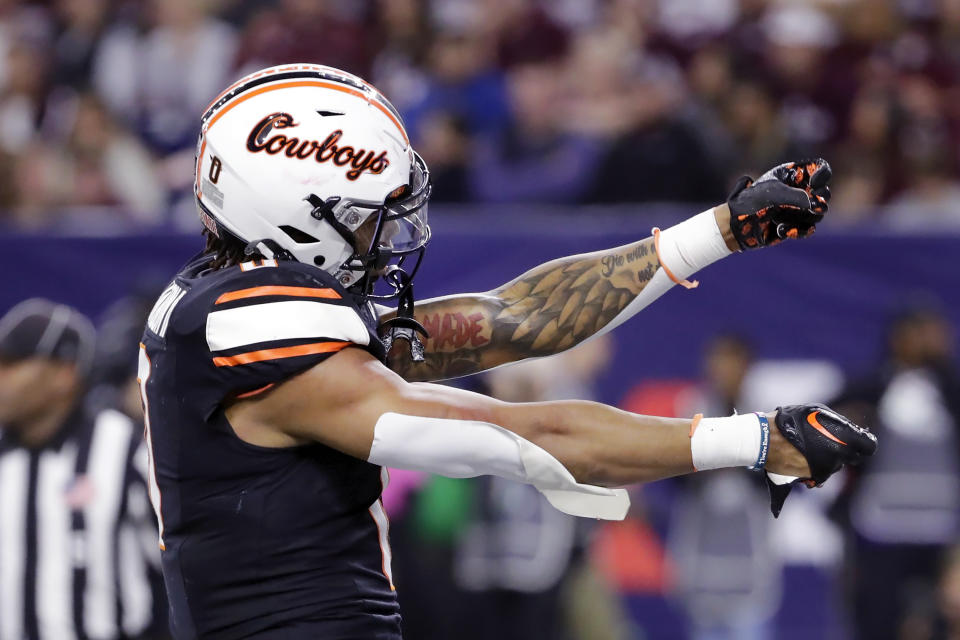
<path id="1" fill-rule="evenodd" d="M 393 106 L 308 64 L 227 88 L 197 145 L 207 246 L 140 352 L 175 637 L 399 638 L 386 467 L 512 478 L 616 519 L 628 501 L 609 487 L 747 466 L 778 511 L 793 482 L 871 454 L 868 431 L 819 405 L 691 421 L 429 383 L 557 353 L 715 260 L 810 235 L 829 177 L 822 160 L 782 165 L 651 238 L 414 305 L 431 185 Z M 441 339 L 453 322 L 460 339 Z"/>

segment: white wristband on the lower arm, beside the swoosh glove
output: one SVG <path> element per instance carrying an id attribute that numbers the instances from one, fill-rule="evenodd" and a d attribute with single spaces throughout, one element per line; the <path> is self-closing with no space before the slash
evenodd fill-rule
<path id="1" fill-rule="evenodd" d="M 755 413 L 727 418 L 703 418 L 690 436 L 690 453 L 697 471 L 724 467 L 752 467 L 766 461 L 769 430 Z M 762 464 L 760 465 L 762 466 Z"/>

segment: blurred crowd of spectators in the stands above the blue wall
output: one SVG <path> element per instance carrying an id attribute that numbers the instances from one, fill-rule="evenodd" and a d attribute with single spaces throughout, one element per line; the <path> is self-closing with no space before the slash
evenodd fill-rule
<path id="1" fill-rule="evenodd" d="M 376 84 L 438 202 L 715 203 L 819 155 L 835 223 L 960 226 L 958 0 L 0 0 L 0 224 L 194 229 L 200 114 L 288 62 Z"/>

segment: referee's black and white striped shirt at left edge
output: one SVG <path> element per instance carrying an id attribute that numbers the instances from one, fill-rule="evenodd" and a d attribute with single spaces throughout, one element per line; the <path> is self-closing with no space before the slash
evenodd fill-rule
<path id="1" fill-rule="evenodd" d="M 159 564 L 140 429 L 75 412 L 46 446 L 0 439 L 0 640 L 115 640 L 152 624 Z"/>

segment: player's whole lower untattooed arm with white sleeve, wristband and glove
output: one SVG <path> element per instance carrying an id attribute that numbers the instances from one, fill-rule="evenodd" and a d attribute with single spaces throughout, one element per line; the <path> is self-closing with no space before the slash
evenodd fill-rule
<path id="1" fill-rule="evenodd" d="M 796 420 L 800 414 L 790 415 Z M 776 417 L 708 418 L 697 426 L 594 402 L 506 403 L 406 382 L 360 349 L 345 349 L 227 408 L 234 430 L 252 444 L 317 441 L 383 466 L 528 482 L 548 498 L 550 492 L 602 491 L 577 483 L 616 486 L 724 466 L 754 465 L 799 478 L 812 474 L 819 483 L 842 464 L 872 453 L 861 442 L 865 436 L 845 424 L 831 425 L 849 445 L 839 453 L 824 453 L 812 439 L 791 444 Z"/>

